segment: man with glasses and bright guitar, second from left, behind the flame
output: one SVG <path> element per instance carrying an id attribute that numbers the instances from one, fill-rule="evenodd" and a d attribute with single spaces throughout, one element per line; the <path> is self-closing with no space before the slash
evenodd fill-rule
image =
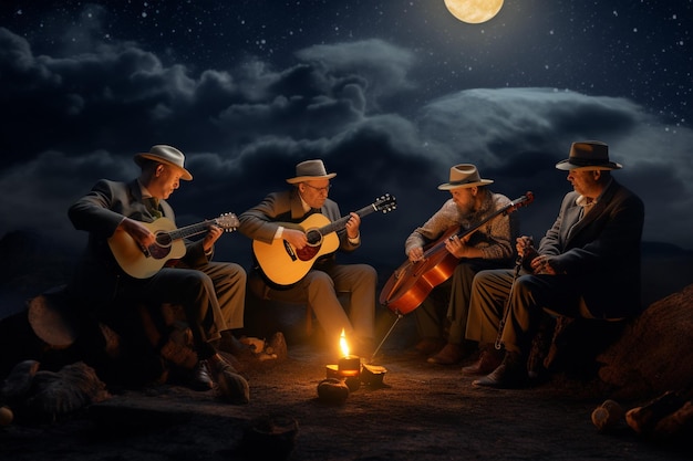
<path id="1" fill-rule="evenodd" d="M 254 240 L 256 264 L 248 286 L 261 300 L 310 306 L 335 353 L 343 332 L 352 352 L 368 356 L 374 345 L 377 273 L 369 264 L 337 262 L 338 251 L 349 253 L 361 245 L 361 217 L 353 211 L 342 217 L 328 198 L 335 176 L 322 160 L 301 161 L 296 176 L 287 179 L 291 188 L 268 193 L 239 216 L 239 231 Z M 324 231 L 322 239 L 314 229 L 328 226 L 334 229 Z M 307 232 L 310 229 L 313 232 Z M 346 310 L 339 292 L 351 295 Z"/>

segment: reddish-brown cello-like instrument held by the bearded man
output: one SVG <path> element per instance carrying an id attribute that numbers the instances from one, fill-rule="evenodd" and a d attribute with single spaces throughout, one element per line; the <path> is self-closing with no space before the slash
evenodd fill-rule
<path id="1" fill-rule="evenodd" d="M 380 303 L 395 314 L 408 314 L 423 303 L 431 291 L 451 277 L 459 259 L 445 249 L 445 242 L 455 235 L 464 238 L 499 214 L 509 214 L 519 207 L 531 203 L 534 193 L 527 192 L 517 200 L 496 210 L 468 229 L 448 229 L 438 240 L 424 248 L 422 260 L 406 260 L 383 285 Z"/>

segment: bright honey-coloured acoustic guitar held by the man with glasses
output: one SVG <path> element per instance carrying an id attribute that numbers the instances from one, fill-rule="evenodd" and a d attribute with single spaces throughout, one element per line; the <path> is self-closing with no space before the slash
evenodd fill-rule
<path id="1" fill-rule="evenodd" d="M 374 211 L 386 213 L 396 208 L 394 197 L 386 193 L 373 203 L 355 211 L 363 218 Z M 283 239 L 275 239 L 271 243 L 259 240 L 252 241 L 252 253 L 263 275 L 277 285 L 291 285 L 301 280 L 313 266 L 316 260 L 339 249 L 338 230 L 344 229 L 349 214 L 334 222 L 321 213 L 313 213 L 299 224 L 282 223 L 289 229 L 300 229 L 306 232 L 308 244 L 298 250 Z"/>

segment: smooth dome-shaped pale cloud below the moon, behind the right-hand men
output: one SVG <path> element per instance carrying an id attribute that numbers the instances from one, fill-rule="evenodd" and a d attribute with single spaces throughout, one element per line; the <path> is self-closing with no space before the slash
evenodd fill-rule
<path id="1" fill-rule="evenodd" d="M 569 185 L 548 179 L 566 177 L 554 164 L 568 156 L 575 140 L 607 142 L 611 159 L 624 165 L 614 178 L 645 202 L 644 238 L 691 248 L 693 220 L 683 212 L 693 197 L 691 129 L 672 129 L 625 98 L 551 88 L 468 90 L 432 102 L 422 113 L 422 137 L 445 161 L 475 163 L 501 179 L 496 188 L 519 192 L 524 184 L 555 207 Z M 662 227 L 672 217 L 678 226 Z"/>

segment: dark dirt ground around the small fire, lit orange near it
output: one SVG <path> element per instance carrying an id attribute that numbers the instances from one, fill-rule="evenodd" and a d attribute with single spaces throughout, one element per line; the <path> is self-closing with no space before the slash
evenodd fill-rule
<path id="1" fill-rule="evenodd" d="M 383 332 L 395 318 L 387 314 Z M 459 366 L 427 364 L 412 350 L 414 338 L 414 318 L 405 316 L 371 362 L 386 370 L 382 385 L 361 385 L 341 405 L 320 400 L 317 390 L 335 358 L 288 337 L 287 358 L 242 367 L 248 405 L 170 385 L 127 390 L 50 425 L 0 427 L 0 459 L 691 459 L 683 443 L 644 440 L 624 420 L 600 432 L 590 416 L 608 396 L 591 381 L 555 376 L 529 389 L 479 389 Z M 281 439 L 246 437 L 268 419 L 298 427 L 287 458 L 272 451 Z"/>

